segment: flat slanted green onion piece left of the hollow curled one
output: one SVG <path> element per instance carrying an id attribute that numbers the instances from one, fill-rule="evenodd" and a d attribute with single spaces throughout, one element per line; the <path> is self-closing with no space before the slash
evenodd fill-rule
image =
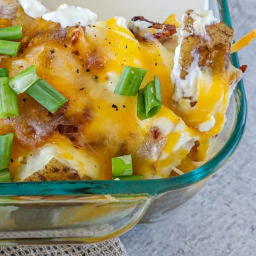
<path id="1" fill-rule="evenodd" d="M 117 83 L 115 94 L 136 96 L 147 70 L 126 66 Z"/>

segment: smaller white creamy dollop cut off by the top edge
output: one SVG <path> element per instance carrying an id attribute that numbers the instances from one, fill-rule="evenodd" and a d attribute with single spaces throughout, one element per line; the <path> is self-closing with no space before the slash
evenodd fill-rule
<path id="1" fill-rule="evenodd" d="M 38 0 L 19 0 L 21 7 L 26 15 L 38 18 L 47 12 L 47 9 Z"/>

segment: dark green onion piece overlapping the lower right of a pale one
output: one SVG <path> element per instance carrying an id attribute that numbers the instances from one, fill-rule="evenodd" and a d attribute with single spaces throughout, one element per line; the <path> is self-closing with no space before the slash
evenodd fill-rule
<path id="1" fill-rule="evenodd" d="M 55 113 L 67 99 L 49 85 L 43 79 L 38 79 L 32 86 L 26 90 L 26 93 L 37 102 L 47 108 L 51 113 Z"/>

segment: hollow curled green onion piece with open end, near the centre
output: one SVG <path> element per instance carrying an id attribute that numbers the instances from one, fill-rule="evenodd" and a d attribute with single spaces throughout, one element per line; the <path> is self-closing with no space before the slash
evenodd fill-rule
<path id="1" fill-rule="evenodd" d="M 156 115 L 161 107 L 161 83 L 154 76 L 154 81 L 150 81 L 138 92 L 137 116 L 140 120 L 150 118 Z"/>

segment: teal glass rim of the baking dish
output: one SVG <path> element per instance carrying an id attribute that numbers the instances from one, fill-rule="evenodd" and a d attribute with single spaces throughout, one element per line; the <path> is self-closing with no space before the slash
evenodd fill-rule
<path id="1" fill-rule="evenodd" d="M 221 19 L 232 26 L 227 0 L 219 1 Z M 237 53 L 231 55 L 235 67 L 240 67 Z M 224 147 L 203 166 L 177 177 L 154 180 L 79 180 L 0 183 L 0 195 L 156 195 L 174 189 L 181 189 L 208 177 L 217 171 L 234 153 L 245 131 L 247 102 L 244 84 L 241 80 L 234 90 L 237 104 L 235 128 Z"/>

